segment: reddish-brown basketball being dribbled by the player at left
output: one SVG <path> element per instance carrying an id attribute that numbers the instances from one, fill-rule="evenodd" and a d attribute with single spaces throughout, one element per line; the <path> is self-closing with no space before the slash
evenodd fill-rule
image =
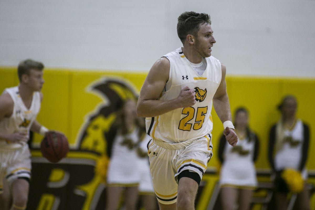
<path id="1" fill-rule="evenodd" d="M 59 162 L 69 151 L 67 137 L 62 133 L 49 131 L 42 140 L 40 150 L 49 162 Z"/>

